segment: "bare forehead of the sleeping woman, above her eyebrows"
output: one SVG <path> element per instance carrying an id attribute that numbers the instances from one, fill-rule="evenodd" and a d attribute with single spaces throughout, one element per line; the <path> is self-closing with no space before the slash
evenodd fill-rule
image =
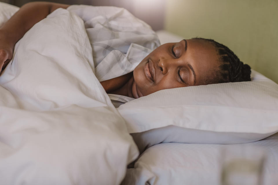
<path id="1" fill-rule="evenodd" d="M 203 39 L 189 39 L 186 41 L 187 61 L 195 70 L 197 82 L 203 82 L 213 75 L 213 72 L 220 66 L 217 50 L 211 42 Z"/>

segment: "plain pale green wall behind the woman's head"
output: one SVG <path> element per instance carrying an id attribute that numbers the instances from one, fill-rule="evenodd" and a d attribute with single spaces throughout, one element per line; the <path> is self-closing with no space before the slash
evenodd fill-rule
<path id="1" fill-rule="evenodd" d="M 278 0 L 167 0 L 165 29 L 212 38 L 278 83 Z"/>

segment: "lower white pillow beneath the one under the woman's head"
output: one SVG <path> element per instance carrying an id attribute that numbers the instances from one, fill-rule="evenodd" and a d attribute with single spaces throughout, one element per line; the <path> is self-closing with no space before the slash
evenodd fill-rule
<path id="1" fill-rule="evenodd" d="M 261 159 L 260 153 L 264 157 L 264 163 L 262 176 L 258 177 L 260 168 L 245 170 L 248 170 L 248 164 L 256 164 Z M 234 145 L 158 144 L 148 148 L 136 161 L 134 168 L 127 169 L 122 185 L 220 185 L 222 169 L 226 169 L 223 164 L 227 158 L 244 165 L 240 169 L 233 166 L 234 170 L 228 171 L 231 180 L 235 180 L 237 171 L 240 173 L 240 183 L 237 184 L 247 185 L 243 181 L 244 175 L 248 179 L 256 177 L 255 180 L 262 180 L 261 183 L 251 183 L 252 185 L 274 185 L 278 182 L 278 134 L 275 134 L 253 143 Z M 239 165 L 238 162 L 232 164 Z"/>

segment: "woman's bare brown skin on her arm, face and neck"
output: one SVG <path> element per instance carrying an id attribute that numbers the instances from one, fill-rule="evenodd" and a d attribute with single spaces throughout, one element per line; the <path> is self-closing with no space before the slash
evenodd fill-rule
<path id="1" fill-rule="evenodd" d="M 12 59 L 15 43 L 34 24 L 57 8 L 68 6 L 49 2 L 23 5 L 0 27 L 0 71 Z M 150 67 L 145 68 L 147 62 Z M 100 83 L 107 93 L 139 98 L 162 89 L 203 85 L 206 79 L 215 74 L 219 65 L 217 51 L 211 43 L 199 39 L 181 40 L 161 45 L 144 58 L 133 72 Z M 149 76 L 153 80 L 146 75 L 146 69 L 149 68 Z M 179 79 L 178 73 L 183 81 Z"/>

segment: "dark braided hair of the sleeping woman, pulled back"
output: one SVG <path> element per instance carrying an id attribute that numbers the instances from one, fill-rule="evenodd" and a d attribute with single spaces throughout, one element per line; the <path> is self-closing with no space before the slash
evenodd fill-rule
<path id="1" fill-rule="evenodd" d="M 207 42 L 211 42 L 215 46 L 219 59 L 222 62 L 219 66 L 219 70 L 215 71 L 216 74 L 214 74 L 210 79 L 207 79 L 205 84 L 251 81 L 250 66 L 248 64 L 243 64 L 243 62 L 240 61 L 235 53 L 227 46 L 220 44 L 213 39 L 199 37 L 193 39 L 202 39 Z"/>

